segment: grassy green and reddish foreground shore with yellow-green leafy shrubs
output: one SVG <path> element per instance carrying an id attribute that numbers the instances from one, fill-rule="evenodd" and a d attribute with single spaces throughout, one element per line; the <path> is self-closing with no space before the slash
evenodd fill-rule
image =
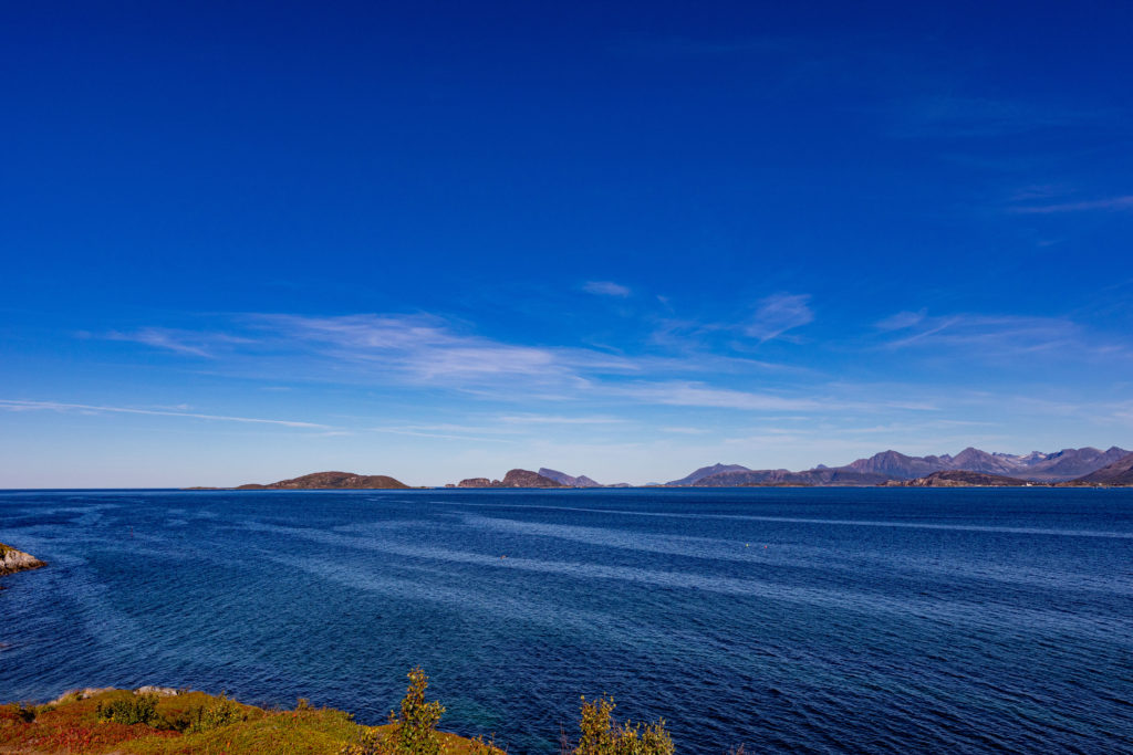
<path id="1" fill-rule="evenodd" d="M 409 672 L 409 687 L 389 722 L 368 727 L 344 711 L 267 710 L 223 693 L 82 689 L 44 705 L 0 705 L 0 753 L 6 755 L 504 755 L 493 736 L 460 737 L 436 729 L 444 706 L 427 702 L 428 677 Z M 573 755 L 672 755 L 665 722 L 613 718 L 610 698 L 581 701 L 579 731 L 564 741 Z"/>

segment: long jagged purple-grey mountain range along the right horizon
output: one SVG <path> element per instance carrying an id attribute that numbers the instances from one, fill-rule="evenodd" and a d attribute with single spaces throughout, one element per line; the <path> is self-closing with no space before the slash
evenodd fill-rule
<path id="1" fill-rule="evenodd" d="M 1025 456 L 990 454 L 978 448 L 965 448 L 955 456 L 906 456 L 885 451 L 869 458 L 859 458 L 844 466 L 818 465 L 802 472 L 790 470 L 750 470 L 739 464 L 702 466 L 688 477 L 666 482 L 665 487 L 689 486 L 723 488 L 750 484 L 819 484 L 870 486 L 887 480 L 913 480 L 934 472 L 959 470 L 982 474 L 1011 477 L 1024 482 L 1064 482 L 1091 474 L 1128 456 L 1130 452 L 1116 446 L 1108 451 L 1097 448 L 1064 448 L 1043 454 L 1033 452 Z"/>

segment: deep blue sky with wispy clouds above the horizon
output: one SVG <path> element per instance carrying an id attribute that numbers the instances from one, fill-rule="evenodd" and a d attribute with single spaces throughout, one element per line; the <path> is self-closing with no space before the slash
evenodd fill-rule
<path id="1" fill-rule="evenodd" d="M 7 3 L 0 487 L 1133 446 L 1133 5 L 927 5 Z"/>

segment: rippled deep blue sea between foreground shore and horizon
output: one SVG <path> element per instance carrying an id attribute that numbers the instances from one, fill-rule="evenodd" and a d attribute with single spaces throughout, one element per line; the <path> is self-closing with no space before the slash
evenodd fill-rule
<path id="1" fill-rule="evenodd" d="M 0 700 L 188 686 L 557 752 L 1133 750 L 1133 492 L 0 492 Z"/>

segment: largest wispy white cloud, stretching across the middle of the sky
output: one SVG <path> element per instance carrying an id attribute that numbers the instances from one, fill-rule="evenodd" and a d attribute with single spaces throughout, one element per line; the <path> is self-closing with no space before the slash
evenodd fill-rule
<path id="1" fill-rule="evenodd" d="M 444 388 L 485 400 L 546 402 L 603 396 L 605 385 L 627 379 L 783 371 L 784 366 L 731 355 L 726 352 L 734 348 L 727 344 L 698 343 L 699 334 L 715 327 L 734 338 L 750 326 L 769 337 L 807 319 L 801 299 L 770 298 L 759 304 L 761 319 L 693 325 L 697 334 L 642 340 L 637 353 L 610 345 L 509 343 L 429 314 L 247 314 L 228 318 L 224 327 L 235 335 L 152 327 L 114 337 L 208 357 L 218 376 L 262 378 L 269 385 L 286 375 L 296 381 Z"/>

